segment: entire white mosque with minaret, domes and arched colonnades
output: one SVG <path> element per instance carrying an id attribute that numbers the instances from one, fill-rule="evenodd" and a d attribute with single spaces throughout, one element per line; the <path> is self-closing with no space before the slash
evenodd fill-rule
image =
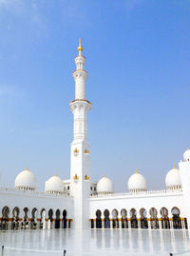
<path id="1" fill-rule="evenodd" d="M 85 98 L 85 56 L 81 41 L 75 58 L 75 99 L 73 141 L 70 145 L 70 177 L 56 174 L 36 191 L 36 177 L 28 167 L 15 179 L 14 187 L 0 187 L 0 229 L 45 228 L 167 228 L 185 229 L 190 224 L 190 149 L 179 168 L 165 177 L 165 190 L 148 190 L 146 180 L 136 170 L 128 180 L 128 192 L 114 193 L 113 182 L 90 177 L 90 147 L 87 140 L 87 113 L 91 103 Z M 189 225 L 190 226 L 190 225 Z"/>

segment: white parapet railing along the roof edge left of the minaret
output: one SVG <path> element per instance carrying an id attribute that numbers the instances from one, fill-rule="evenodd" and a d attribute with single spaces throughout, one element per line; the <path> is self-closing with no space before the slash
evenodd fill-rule
<path id="1" fill-rule="evenodd" d="M 72 198 L 67 194 L 59 194 L 59 193 L 46 193 L 43 191 L 36 191 L 36 190 L 24 190 L 18 189 L 13 187 L 0 187 L 0 192 L 10 192 L 10 193 L 17 193 L 17 194 L 28 194 L 28 195 L 36 195 L 36 196 L 43 196 L 43 197 L 61 197 L 61 198 Z"/>

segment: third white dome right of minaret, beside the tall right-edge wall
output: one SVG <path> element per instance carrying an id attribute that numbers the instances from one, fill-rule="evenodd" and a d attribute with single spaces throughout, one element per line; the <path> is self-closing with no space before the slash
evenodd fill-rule
<path id="1" fill-rule="evenodd" d="M 168 189 L 179 189 L 181 187 L 180 169 L 175 166 L 167 172 L 165 185 Z"/>

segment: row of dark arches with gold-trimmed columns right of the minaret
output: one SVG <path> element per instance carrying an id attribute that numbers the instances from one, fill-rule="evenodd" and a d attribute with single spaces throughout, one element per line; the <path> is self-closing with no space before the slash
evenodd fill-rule
<path id="1" fill-rule="evenodd" d="M 139 212 L 135 208 L 121 211 L 97 209 L 95 218 L 90 219 L 91 228 L 152 228 L 152 229 L 185 229 L 186 218 L 180 216 L 180 209 L 173 207 L 169 214 L 166 207 L 157 210 L 151 207 L 149 210 L 141 208 Z"/>

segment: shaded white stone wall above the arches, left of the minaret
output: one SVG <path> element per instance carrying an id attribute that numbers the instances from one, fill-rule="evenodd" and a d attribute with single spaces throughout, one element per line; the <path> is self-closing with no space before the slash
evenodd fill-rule
<path id="1" fill-rule="evenodd" d="M 31 211 L 34 207 L 37 208 L 37 218 L 40 218 L 40 213 L 43 208 L 46 209 L 46 218 L 48 210 L 53 210 L 53 218 L 55 218 L 55 212 L 57 209 L 61 211 L 61 217 L 63 216 L 63 210 L 66 209 L 67 219 L 73 219 L 73 198 L 66 195 L 47 194 L 45 192 L 37 191 L 20 191 L 14 188 L 0 187 L 0 217 L 2 217 L 3 207 L 10 208 L 10 215 L 12 217 L 12 210 L 14 207 L 19 207 L 19 217 L 24 217 L 23 209 L 28 207 L 28 218 L 31 218 Z"/>

